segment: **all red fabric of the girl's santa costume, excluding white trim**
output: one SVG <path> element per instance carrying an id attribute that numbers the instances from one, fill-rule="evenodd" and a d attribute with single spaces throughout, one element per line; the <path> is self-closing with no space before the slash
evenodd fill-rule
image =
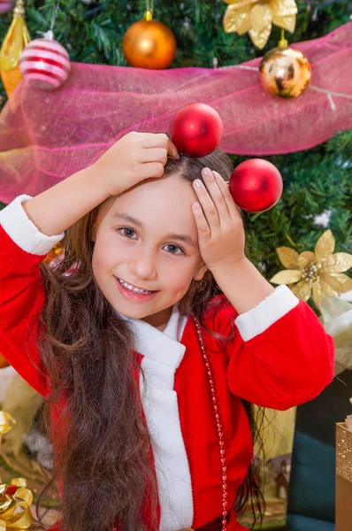
<path id="1" fill-rule="evenodd" d="M 48 378 L 41 368 L 34 342 L 25 349 L 29 323 L 42 308 L 44 290 L 39 264 L 44 257 L 20 250 L 0 227 L 0 345 L 9 363 L 43 396 Z M 207 327 L 228 334 L 237 316 L 231 304 L 220 304 L 204 315 Z M 300 302 L 262 334 L 243 342 L 236 333 L 226 350 L 210 334 L 204 335 L 210 352 L 218 404 L 226 441 L 228 501 L 233 504 L 244 480 L 253 449 L 249 420 L 241 398 L 284 410 L 318 394 L 333 379 L 333 339 L 318 317 Z M 194 496 L 193 528 L 218 518 L 221 511 L 221 468 L 218 437 L 195 324 L 188 319 L 181 342 L 184 358 L 175 374 L 180 425 L 187 451 Z M 139 355 L 142 359 L 142 355 Z M 152 457 L 152 455 L 151 455 Z M 149 521 L 146 504 L 146 522 Z M 160 515 L 159 515 L 160 517 Z M 228 531 L 243 529 L 235 518 Z"/>

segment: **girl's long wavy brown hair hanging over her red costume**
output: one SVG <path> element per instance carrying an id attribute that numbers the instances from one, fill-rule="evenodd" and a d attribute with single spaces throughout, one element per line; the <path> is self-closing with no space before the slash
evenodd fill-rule
<path id="1" fill-rule="evenodd" d="M 205 166 L 226 181 L 233 170 L 226 154 L 215 150 L 203 158 L 169 159 L 165 176 L 176 173 L 194 181 L 202 179 Z M 141 373 L 143 378 L 143 373 L 128 321 L 119 318 L 92 273 L 92 227 L 99 208 L 66 231 L 62 262 L 54 268 L 41 265 L 47 297 L 39 341 L 53 385 L 46 404 L 47 433 L 52 407 L 62 406 L 62 396 L 66 397 L 66 410 L 61 410 L 65 429 L 55 430 L 53 481 L 62 488 L 63 531 L 112 531 L 117 520 L 124 531 L 147 531 L 141 517 L 143 501 L 149 492 L 157 529 L 157 482 L 135 377 Z M 180 313 L 202 323 L 205 308 L 218 293 L 208 271 L 202 281 L 191 282 L 179 303 Z M 245 407 L 256 437 L 250 404 Z M 260 513 L 259 491 L 249 468 L 235 503 L 237 511 L 251 495 L 257 498 Z"/>

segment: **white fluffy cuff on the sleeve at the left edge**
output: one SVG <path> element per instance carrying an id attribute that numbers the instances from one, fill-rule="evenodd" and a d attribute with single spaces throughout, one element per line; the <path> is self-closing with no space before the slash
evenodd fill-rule
<path id="1" fill-rule="evenodd" d="M 32 199 L 32 196 L 24 194 L 5 206 L 0 212 L 0 225 L 20 249 L 30 254 L 44 256 L 63 239 L 65 233 L 54 236 L 43 235 L 23 209 L 22 203 L 28 199 Z"/>

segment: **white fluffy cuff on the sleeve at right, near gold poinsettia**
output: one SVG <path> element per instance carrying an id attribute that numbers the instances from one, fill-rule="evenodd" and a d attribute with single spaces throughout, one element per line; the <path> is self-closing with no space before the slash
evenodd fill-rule
<path id="1" fill-rule="evenodd" d="M 281 284 L 264 301 L 249 312 L 241 313 L 234 324 L 243 341 L 249 341 L 262 334 L 273 323 L 281 319 L 299 303 L 299 299 L 285 284 Z"/>

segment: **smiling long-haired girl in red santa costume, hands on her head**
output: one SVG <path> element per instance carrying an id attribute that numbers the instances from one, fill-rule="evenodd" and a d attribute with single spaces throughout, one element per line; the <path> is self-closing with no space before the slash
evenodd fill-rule
<path id="1" fill-rule="evenodd" d="M 232 170 L 130 133 L 0 212 L 0 344 L 47 399 L 60 531 L 243 529 L 250 404 L 333 379 L 318 317 L 245 256 Z"/>

